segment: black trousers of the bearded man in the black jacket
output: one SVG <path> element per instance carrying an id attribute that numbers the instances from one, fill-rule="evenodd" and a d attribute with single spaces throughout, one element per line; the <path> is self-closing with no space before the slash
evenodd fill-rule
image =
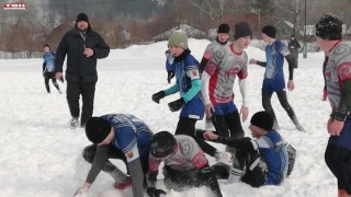
<path id="1" fill-rule="evenodd" d="M 84 126 L 92 116 L 95 95 L 95 83 L 67 82 L 67 102 L 72 117 L 79 118 L 79 97 L 82 97 L 80 124 Z"/>

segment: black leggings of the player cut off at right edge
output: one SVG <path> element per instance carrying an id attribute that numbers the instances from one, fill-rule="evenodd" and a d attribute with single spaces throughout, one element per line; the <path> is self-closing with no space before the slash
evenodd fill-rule
<path id="1" fill-rule="evenodd" d="M 351 150 L 328 144 L 325 160 L 338 179 L 338 189 L 344 189 L 348 195 L 351 195 Z"/>

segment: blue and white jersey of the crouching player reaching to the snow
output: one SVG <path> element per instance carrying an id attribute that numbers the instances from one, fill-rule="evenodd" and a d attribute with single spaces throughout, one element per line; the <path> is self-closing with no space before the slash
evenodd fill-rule
<path id="1" fill-rule="evenodd" d="M 128 162 L 148 157 L 152 131 L 143 120 L 129 114 L 107 114 L 101 117 L 112 125 L 115 137 L 111 143 L 122 150 Z"/>

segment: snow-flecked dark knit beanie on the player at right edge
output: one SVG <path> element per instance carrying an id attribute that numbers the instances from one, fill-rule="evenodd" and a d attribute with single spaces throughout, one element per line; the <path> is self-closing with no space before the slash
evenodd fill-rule
<path id="1" fill-rule="evenodd" d="M 320 20 L 316 24 L 316 36 L 328 39 L 338 40 L 341 39 L 342 21 L 331 14 L 321 15 Z"/>

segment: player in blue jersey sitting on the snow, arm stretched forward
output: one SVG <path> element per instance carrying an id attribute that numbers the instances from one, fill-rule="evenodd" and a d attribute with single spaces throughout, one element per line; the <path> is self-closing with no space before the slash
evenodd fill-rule
<path id="1" fill-rule="evenodd" d="M 229 183 L 240 179 L 252 187 L 280 185 L 293 171 L 295 149 L 272 129 L 273 124 L 270 113 L 258 112 L 252 116 L 249 127 L 256 139 L 234 139 L 205 131 L 205 139 L 236 148 L 231 167 L 224 164 L 212 166 L 217 177 Z"/>

